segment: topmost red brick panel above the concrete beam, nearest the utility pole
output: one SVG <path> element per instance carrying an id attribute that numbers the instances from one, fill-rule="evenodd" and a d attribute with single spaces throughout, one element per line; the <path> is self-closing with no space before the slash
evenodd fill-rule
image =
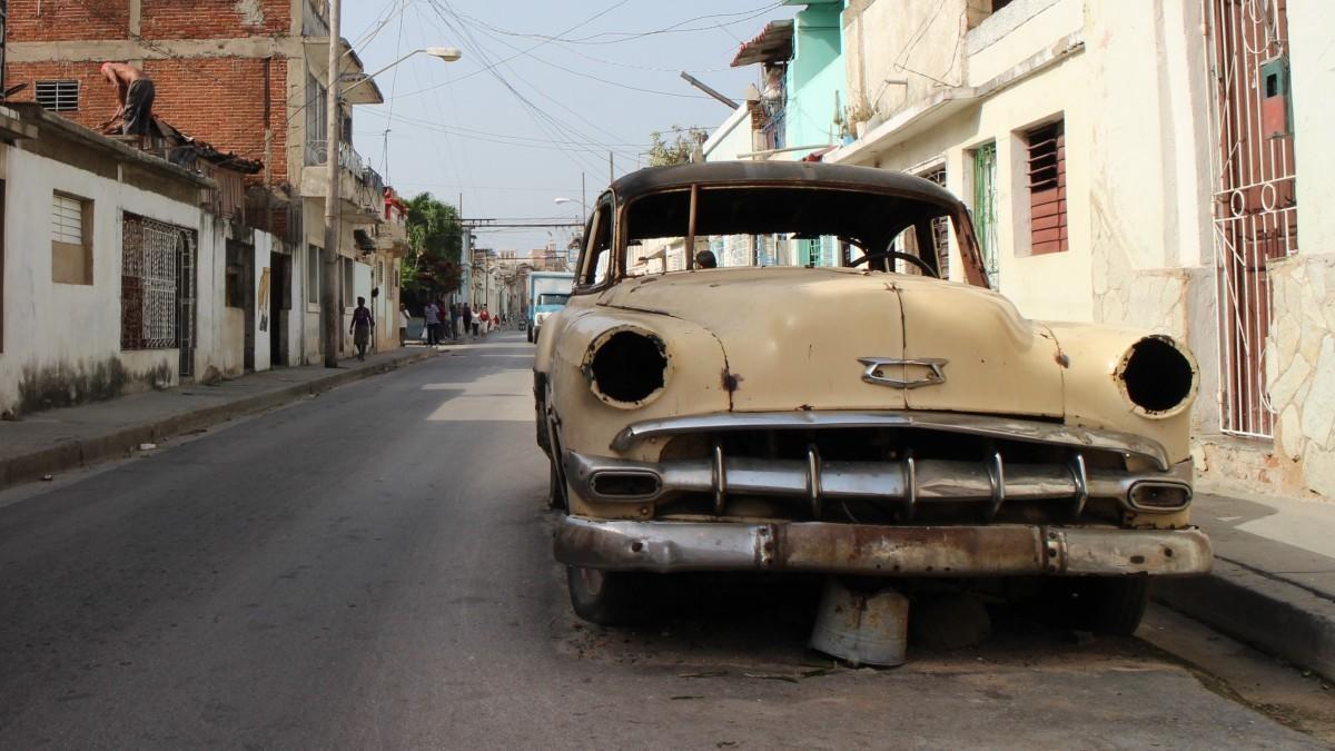
<path id="1" fill-rule="evenodd" d="M 292 24 L 288 0 L 142 0 L 140 8 L 146 39 L 286 35 Z"/>

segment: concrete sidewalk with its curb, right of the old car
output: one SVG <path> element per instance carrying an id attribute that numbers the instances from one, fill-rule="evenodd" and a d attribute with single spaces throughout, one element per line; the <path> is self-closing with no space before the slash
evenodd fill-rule
<path id="1" fill-rule="evenodd" d="M 1155 597 L 1335 680 L 1335 504 L 1203 485 L 1192 521 L 1215 545 L 1215 571 L 1157 580 Z"/>

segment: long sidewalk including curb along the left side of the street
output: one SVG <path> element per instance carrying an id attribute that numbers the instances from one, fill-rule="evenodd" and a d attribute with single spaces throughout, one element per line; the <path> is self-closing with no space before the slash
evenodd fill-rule
<path id="1" fill-rule="evenodd" d="M 0 422 L 0 488 L 127 456 L 140 444 L 200 430 L 434 357 L 406 347 L 346 359 L 339 369 L 318 365 L 252 373 L 214 385 L 132 394 Z"/>

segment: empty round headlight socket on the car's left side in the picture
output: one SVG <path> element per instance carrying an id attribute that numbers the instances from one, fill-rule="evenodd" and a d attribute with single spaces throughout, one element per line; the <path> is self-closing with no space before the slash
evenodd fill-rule
<path id="1" fill-rule="evenodd" d="M 583 374 L 594 396 L 618 409 L 637 409 L 658 398 L 668 384 L 668 345 L 635 326 L 599 334 L 585 354 Z"/>

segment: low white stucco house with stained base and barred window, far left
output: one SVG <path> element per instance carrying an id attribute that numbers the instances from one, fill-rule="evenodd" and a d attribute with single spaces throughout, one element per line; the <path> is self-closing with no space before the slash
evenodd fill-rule
<path id="1" fill-rule="evenodd" d="M 274 325 L 248 303 L 276 241 L 232 220 L 239 174 L 36 104 L 0 108 L 0 413 L 271 366 Z"/>

